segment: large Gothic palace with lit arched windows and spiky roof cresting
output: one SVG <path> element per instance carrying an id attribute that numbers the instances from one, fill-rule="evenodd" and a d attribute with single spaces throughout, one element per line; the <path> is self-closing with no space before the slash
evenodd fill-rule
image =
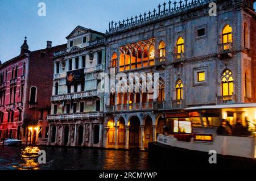
<path id="1" fill-rule="evenodd" d="M 216 16 L 209 15 L 210 2 L 217 5 Z M 106 93 L 103 146 L 144 150 L 166 128 L 191 133 L 186 107 L 255 102 L 253 3 L 170 1 L 110 22 L 106 73 L 159 73 L 159 96 Z"/>

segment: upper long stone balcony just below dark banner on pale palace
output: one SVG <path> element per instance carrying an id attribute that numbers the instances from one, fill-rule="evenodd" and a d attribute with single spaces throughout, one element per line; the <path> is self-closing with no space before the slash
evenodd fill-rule
<path id="1" fill-rule="evenodd" d="M 73 92 L 70 94 L 53 95 L 53 96 L 51 96 L 51 102 L 62 101 L 62 100 L 71 100 L 71 97 L 72 97 L 72 99 L 83 99 L 83 98 L 92 98 L 95 96 L 100 96 L 100 92 L 98 92 L 97 90 Z"/>

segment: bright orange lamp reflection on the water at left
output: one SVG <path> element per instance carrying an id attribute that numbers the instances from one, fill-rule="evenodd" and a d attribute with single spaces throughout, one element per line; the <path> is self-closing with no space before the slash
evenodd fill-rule
<path id="1" fill-rule="evenodd" d="M 27 169 L 40 169 L 38 163 L 38 151 L 40 149 L 36 146 L 27 146 L 20 150 L 20 161 L 19 165 L 13 165 L 14 168 L 19 170 L 27 170 Z"/>

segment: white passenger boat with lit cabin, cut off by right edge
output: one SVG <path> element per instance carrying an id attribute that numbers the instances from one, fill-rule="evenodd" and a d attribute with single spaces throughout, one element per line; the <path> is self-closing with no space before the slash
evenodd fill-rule
<path id="1" fill-rule="evenodd" d="M 248 119 L 255 125 L 255 103 L 191 107 L 183 111 L 190 121 L 175 120 L 170 124 L 172 133 L 158 134 L 157 141 L 149 145 L 151 155 L 163 154 L 164 158 L 179 158 L 179 162 L 181 158 L 186 162 L 193 158 L 192 163 L 202 158 L 200 163 L 208 163 L 209 153 L 214 151 L 218 158 L 228 158 L 229 165 L 237 165 L 239 160 L 246 161 L 245 167 L 248 163 L 256 166 L 255 129 L 249 136 L 216 133 L 222 119 L 235 125 L 237 117 L 241 117 L 244 124 L 249 124 Z"/>

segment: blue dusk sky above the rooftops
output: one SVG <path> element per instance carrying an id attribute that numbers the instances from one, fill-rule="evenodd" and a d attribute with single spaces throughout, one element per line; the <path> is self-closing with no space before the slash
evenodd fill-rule
<path id="1" fill-rule="evenodd" d="M 46 3 L 46 16 L 38 15 L 38 3 Z M 30 50 L 66 43 L 78 25 L 105 32 L 109 21 L 119 21 L 153 10 L 164 0 L 1 0 L 0 60 L 18 56 L 24 36 Z M 168 1 L 166 1 L 168 2 Z M 256 6 L 254 6 L 254 9 Z"/>

